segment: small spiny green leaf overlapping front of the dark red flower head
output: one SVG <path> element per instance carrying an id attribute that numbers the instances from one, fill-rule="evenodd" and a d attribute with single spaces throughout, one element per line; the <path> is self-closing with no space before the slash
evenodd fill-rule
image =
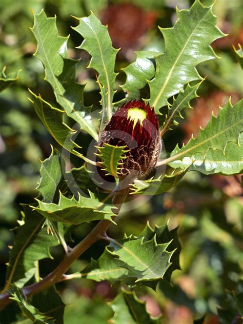
<path id="1" fill-rule="evenodd" d="M 113 146 L 107 143 L 102 147 L 97 147 L 99 153 L 96 153 L 96 155 L 102 159 L 99 163 L 104 165 L 102 170 L 107 171 L 107 174 L 118 177 L 120 166 L 123 165 L 120 160 L 126 158 L 124 153 L 129 152 L 129 150 L 125 150 L 126 148 L 127 146 Z"/>

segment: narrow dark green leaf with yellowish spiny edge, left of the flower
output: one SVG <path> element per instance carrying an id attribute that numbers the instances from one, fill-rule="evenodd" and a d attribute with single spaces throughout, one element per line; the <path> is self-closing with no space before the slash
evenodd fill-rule
<path id="1" fill-rule="evenodd" d="M 57 143 L 76 156 L 84 158 L 82 154 L 74 150 L 74 148 L 80 148 L 80 146 L 72 140 L 76 131 L 63 122 L 65 111 L 52 107 L 40 95 L 36 96 L 32 91 L 30 93 L 32 94 L 30 102 L 38 117 Z"/>

